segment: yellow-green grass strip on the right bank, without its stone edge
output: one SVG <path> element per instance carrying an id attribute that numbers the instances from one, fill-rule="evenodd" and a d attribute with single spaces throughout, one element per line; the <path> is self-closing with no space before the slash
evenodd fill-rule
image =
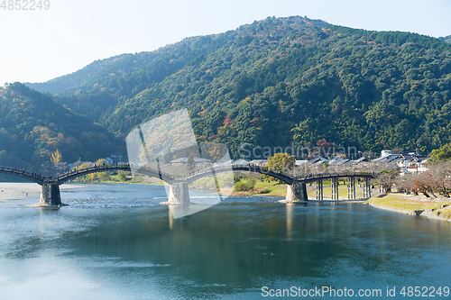
<path id="1" fill-rule="evenodd" d="M 429 210 L 445 219 L 451 218 L 451 200 L 450 202 L 437 202 L 426 197 L 406 198 L 406 195 L 402 194 L 389 194 L 382 197 L 372 197 L 367 200 L 367 203 L 407 212 Z"/>

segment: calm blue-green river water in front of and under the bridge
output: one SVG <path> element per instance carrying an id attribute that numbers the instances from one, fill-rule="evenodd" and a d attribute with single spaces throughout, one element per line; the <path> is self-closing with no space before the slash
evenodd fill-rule
<path id="1" fill-rule="evenodd" d="M 159 205 L 163 186 L 93 185 L 61 198 L 59 211 L 26 206 L 37 198 L 0 202 L 0 299 L 258 299 L 263 286 L 413 299 L 402 286 L 451 286 L 447 222 L 268 196 L 174 220 Z"/>

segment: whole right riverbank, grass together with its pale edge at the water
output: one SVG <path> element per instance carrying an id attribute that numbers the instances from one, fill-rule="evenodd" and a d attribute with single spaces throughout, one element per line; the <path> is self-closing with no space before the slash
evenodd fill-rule
<path id="1" fill-rule="evenodd" d="M 366 203 L 400 214 L 420 215 L 431 219 L 451 222 L 450 198 L 428 198 L 421 195 L 392 193 L 373 196 Z"/>

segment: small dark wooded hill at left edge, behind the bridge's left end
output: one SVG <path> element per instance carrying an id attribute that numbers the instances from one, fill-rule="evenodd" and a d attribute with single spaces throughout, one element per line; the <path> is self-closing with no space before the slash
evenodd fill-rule
<path id="1" fill-rule="evenodd" d="M 51 154 L 62 160 L 94 160 L 111 155 L 115 137 L 87 117 L 50 97 L 14 83 L 0 88 L 0 166 L 51 171 Z"/>

